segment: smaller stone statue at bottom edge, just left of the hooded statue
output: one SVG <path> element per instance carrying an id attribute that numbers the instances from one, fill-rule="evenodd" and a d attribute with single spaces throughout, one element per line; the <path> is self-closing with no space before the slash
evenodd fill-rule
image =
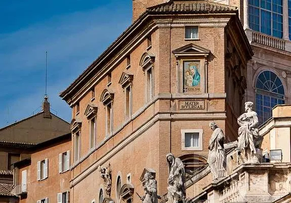
<path id="1" fill-rule="evenodd" d="M 144 196 L 140 197 L 143 203 L 157 203 L 157 188 L 156 180 L 153 178 L 151 173 L 146 172 L 144 175 L 145 182 L 144 187 Z"/>

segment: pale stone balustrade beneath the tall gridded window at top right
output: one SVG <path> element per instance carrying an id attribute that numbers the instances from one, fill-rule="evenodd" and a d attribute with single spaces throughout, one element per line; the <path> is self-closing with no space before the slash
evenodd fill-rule
<path id="1" fill-rule="evenodd" d="M 260 32 L 255 32 L 254 30 L 252 33 L 252 42 L 273 47 L 279 50 L 285 50 L 285 41 L 283 39 L 262 34 Z"/>

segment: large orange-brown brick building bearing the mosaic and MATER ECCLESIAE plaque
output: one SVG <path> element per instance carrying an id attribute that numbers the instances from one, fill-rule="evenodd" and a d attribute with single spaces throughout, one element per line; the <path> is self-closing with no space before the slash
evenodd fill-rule
<path id="1" fill-rule="evenodd" d="M 148 2 L 133 1 L 134 23 L 60 94 L 72 108 L 70 202 L 138 202 L 144 168 L 164 194 L 165 155 L 191 171 L 205 165 L 212 120 L 236 139 L 253 55 L 238 11 Z M 100 167 L 109 164 L 106 193 Z"/>

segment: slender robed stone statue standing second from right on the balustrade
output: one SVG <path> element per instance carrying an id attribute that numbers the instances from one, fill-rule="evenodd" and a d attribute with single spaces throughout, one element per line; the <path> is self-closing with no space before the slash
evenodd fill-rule
<path id="1" fill-rule="evenodd" d="M 210 166 L 213 179 L 217 180 L 226 176 L 226 153 L 223 147 L 225 136 L 216 123 L 210 123 L 210 128 L 213 133 L 209 141 L 207 163 Z"/>

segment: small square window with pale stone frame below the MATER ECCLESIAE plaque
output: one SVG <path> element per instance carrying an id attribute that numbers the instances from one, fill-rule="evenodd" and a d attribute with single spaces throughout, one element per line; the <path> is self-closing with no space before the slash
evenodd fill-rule
<path id="1" fill-rule="evenodd" d="M 202 150 L 203 130 L 185 129 L 181 130 L 182 150 Z"/>

